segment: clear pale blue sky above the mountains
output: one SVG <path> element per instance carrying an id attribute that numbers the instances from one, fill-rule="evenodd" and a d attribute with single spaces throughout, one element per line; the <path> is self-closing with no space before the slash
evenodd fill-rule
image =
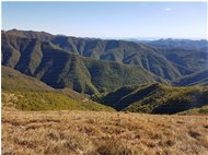
<path id="1" fill-rule="evenodd" d="M 207 38 L 207 2 L 2 2 L 4 31 L 101 38 Z"/>

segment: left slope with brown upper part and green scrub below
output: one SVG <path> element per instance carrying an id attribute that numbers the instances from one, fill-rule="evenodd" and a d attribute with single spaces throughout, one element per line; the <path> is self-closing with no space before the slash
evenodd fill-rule
<path id="1" fill-rule="evenodd" d="M 21 110 L 108 110 L 113 108 L 92 102 L 72 90 L 54 90 L 43 82 L 13 69 L 2 70 L 2 108 Z"/>

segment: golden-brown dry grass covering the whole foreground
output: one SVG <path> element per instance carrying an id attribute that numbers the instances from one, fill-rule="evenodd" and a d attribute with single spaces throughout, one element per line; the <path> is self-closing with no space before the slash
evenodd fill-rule
<path id="1" fill-rule="evenodd" d="M 208 116 L 2 111 L 4 155 L 208 155 Z"/>

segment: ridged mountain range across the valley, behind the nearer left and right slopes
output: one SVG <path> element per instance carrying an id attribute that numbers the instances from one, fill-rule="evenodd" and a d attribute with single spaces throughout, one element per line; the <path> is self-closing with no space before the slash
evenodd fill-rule
<path id="1" fill-rule="evenodd" d="M 2 31 L 2 64 L 55 88 L 70 87 L 86 94 L 109 92 L 129 84 L 171 84 L 207 68 L 206 49 L 172 46 L 160 49 L 150 43 Z"/>

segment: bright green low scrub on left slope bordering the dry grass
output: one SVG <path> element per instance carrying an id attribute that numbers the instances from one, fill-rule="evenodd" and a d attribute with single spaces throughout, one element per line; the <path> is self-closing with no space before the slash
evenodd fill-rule
<path id="1" fill-rule="evenodd" d="M 56 92 L 19 92 L 2 93 L 2 103 L 5 107 L 21 110 L 108 110 L 113 108 L 89 100 L 77 100 Z"/>

